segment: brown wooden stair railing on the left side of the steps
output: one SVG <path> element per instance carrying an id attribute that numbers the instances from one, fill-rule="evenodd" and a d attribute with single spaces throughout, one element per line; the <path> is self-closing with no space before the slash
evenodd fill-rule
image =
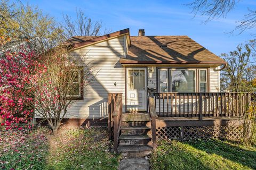
<path id="1" fill-rule="evenodd" d="M 122 124 L 122 94 L 108 94 L 108 133 L 114 138 L 114 151 L 117 152 L 118 140 Z"/>

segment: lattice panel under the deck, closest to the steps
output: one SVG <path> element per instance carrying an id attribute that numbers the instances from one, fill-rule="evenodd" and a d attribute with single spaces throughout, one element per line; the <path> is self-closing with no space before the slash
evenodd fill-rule
<path id="1" fill-rule="evenodd" d="M 180 128 L 179 127 L 163 127 L 156 129 L 157 139 L 180 139 Z"/>

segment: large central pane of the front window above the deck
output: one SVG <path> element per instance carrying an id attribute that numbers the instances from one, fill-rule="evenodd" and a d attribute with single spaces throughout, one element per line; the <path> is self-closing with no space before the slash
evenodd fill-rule
<path id="1" fill-rule="evenodd" d="M 195 71 L 172 71 L 172 92 L 195 92 Z"/>

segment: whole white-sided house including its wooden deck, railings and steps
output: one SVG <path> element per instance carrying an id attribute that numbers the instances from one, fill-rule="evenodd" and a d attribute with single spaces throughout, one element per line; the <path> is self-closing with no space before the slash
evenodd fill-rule
<path id="1" fill-rule="evenodd" d="M 239 138 L 237 117 L 250 94 L 220 92 L 227 63 L 188 36 L 145 36 L 143 29 L 138 35 L 124 29 L 66 41 L 79 66 L 97 70 L 86 88 L 77 70 L 66 121 L 108 124 L 114 150 L 124 156 L 148 155 L 161 138 Z"/>

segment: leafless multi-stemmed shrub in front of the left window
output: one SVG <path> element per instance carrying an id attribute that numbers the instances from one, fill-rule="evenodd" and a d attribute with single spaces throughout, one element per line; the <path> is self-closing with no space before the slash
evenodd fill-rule
<path id="1" fill-rule="evenodd" d="M 46 71 L 39 75 L 35 84 L 35 115 L 47 121 L 56 133 L 68 107 L 82 99 L 84 89 L 93 80 L 95 70 L 86 58 L 76 60 L 70 53 L 54 52 L 45 60 Z"/>

